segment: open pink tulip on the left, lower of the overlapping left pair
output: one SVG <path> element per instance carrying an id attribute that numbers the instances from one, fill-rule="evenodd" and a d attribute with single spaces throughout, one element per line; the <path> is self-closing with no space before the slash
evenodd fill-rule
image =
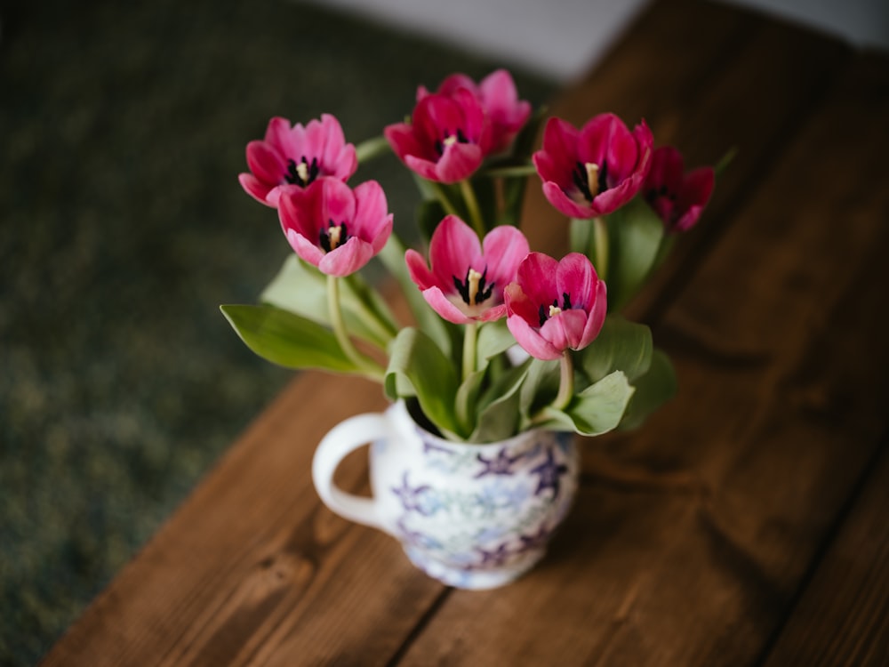
<path id="1" fill-rule="evenodd" d="M 326 176 L 307 188 L 281 193 L 278 217 L 301 259 L 328 276 L 348 276 L 382 250 L 392 233 L 392 213 L 377 181 L 350 189 Z"/>

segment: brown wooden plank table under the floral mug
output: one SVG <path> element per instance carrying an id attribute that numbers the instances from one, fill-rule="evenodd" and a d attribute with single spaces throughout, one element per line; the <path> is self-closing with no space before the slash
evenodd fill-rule
<path id="1" fill-rule="evenodd" d="M 383 398 L 304 374 L 47 667 L 887 663 L 889 59 L 661 0 L 553 110 L 645 117 L 693 165 L 738 153 L 631 313 L 679 396 L 584 443 L 547 559 L 455 591 L 332 515 L 314 446 Z M 565 223 L 536 187 L 528 206 L 532 245 L 559 251 Z M 363 475 L 351 459 L 341 483 Z"/>

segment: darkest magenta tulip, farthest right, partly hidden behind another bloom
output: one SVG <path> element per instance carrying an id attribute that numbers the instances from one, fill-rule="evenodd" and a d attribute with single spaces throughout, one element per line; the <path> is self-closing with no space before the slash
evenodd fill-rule
<path id="1" fill-rule="evenodd" d="M 682 154 L 664 146 L 654 151 L 642 192 L 669 232 L 692 229 L 709 202 L 716 175 L 712 167 L 685 173 Z"/>

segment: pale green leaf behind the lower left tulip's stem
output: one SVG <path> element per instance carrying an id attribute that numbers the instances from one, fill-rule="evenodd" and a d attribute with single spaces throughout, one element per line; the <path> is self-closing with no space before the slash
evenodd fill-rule
<path id="1" fill-rule="evenodd" d="M 330 326 L 327 277 L 295 254 L 260 294 L 260 301 Z M 349 333 L 385 350 L 397 331 L 388 308 L 357 275 L 340 282 L 340 309 Z"/>

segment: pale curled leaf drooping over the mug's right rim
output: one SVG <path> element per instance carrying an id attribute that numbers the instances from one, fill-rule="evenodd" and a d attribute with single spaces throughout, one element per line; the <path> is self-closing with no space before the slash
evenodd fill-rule
<path id="1" fill-rule="evenodd" d="M 602 380 L 577 394 L 565 410 L 548 407 L 548 418 L 542 425 L 557 430 L 573 430 L 582 436 L 597 436 L 613 430 L 621 423 L 633 387 L 621 371 L 606 375 Z"/>

